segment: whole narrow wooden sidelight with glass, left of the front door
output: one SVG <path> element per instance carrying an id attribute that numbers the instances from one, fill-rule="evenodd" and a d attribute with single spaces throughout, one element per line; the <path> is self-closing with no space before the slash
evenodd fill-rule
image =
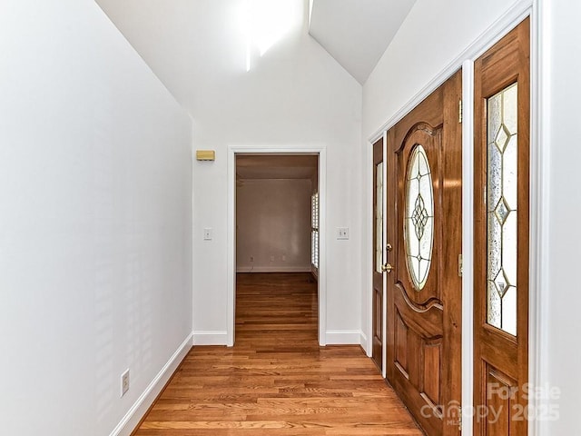
<path id="1" fill-rule="evenodd" d="M 383 372 L 383 144 L 385 135 L 373 144 L 373 303 L 371 358 Z"/>

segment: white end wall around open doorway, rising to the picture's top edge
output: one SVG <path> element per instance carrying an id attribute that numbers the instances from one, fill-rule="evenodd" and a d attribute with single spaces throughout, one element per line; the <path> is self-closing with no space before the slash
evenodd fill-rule
<path id="1" fill-rule="evenodd" d="M 214 163 L 193 168 L 196 336 L 228 343 L 228 150 L 247 146 L 325 147 L 323 330 L 339 338 L 331 342 L 344 341 L 336 332 L 359 337 L 361 85 L 308 35 L 308 2 L 174 0 L 169 8 L 159 0 L 97 1 L 192 114 L 195 148 L 216 151 Z M 262 42 L 272 43 L 266 52 Z M 350 240 L 337 241 L 344 226 Z M 213 240 L 198 244 L 205 227 L 214 229 Z"/>

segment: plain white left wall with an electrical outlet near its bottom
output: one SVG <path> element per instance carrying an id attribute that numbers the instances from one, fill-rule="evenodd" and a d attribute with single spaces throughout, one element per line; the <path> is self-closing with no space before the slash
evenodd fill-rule
<path id="1" fill-rule="evenodd" d="M 92 0 L 0 53 L 2 433 L 108 435 L 192 332 L 191 120 Z"/>

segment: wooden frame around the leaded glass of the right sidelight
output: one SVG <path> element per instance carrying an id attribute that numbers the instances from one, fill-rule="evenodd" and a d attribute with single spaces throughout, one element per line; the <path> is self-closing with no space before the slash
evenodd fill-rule
<path id="1" fill-rule="evenodd" d="M 529 32 L 527 18 L 475 62 L 474 434 L 478 436 L 527 434 Z M 488 324 L 487 318 L 487 101 L 513 84 L 517 84 L 516 336 Z"/>

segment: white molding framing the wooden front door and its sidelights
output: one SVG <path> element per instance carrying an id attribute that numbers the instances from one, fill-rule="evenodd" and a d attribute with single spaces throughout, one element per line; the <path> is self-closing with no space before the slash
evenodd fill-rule
<path id="1" fill-rule="evenodd" d="M 383 132 L 397 124 L 401 118 L 421 103 L 429 94 L 434 92 L 440 84 L 443 84 L 458 68 L 462 68 L 462 93 L 463 93 L 463 125 L 462 125 L 462 250 L 463 250 L 463 274 L 462 274 L 462 316 L 464 320 L 471 320 L 474 316 L 473 300 L 473 247 L 474 247 L 474 167 L 473 167 L 473 138 L 474 138 L 474 61 L 504 35 L 523 21 L 527 16 L 531 17 L 530 35 L 530 266 L 529 266 L 529 377 L 528 381 L 533 386 L 543 386 L 548 380 L 545 357 L 547 355 L 547 307 L 548 273 L 543 265 L 548 264 L 548 251 L 542 250 L 548 244 L 549 223 L 549 157 L 550 142 L 548 141 L 548 105 L 549 89 L 547 83 L 550 77 L 550 42 L 546 35 L 548 27 L 547 4 L 543 0 L 521 0 L 512 5 L 507 12 L 495 23 L 490 25 L 476 38 L 472 45 L 450 62 L 431 82 L 429 82 L 418 94 L 415 94 L 407 104 L 393 114 L 374 134 L 368 137 L 366 144 L 366 159 L 364 167 L 364 186 L 370 186 L 372 166 L 372 145 L 381 137 Z M 545 36 L 545 37 L 544 37 Z M 370 210 L 372 207 L 372 193 L 367 192 L 368 204 L 364 220 L 367 228 L 367 241 L 371 241 Z M 369 253 L 368 253 L 369 252 Z M 365 271 L 370 271 L 372 264 L 370 250 L 363 253 Z M 365 275 L 364 289 L 371 295 L 371 277 Z M 545 291 L 543 291 L 545 290 Z M 371 313 L 372 300 L 368 297 L 366 307 Z M 371 337 L 371 321 L 368 316 L 366 325 Z M 463 425 L 462 434 L 472 435 L 472 406 L 474 383 L 474 329 L 472 322 L 462 322 L 462 406 Z M 368 354 L 371 350 L 368 341 Z M 530 406 L 534 410 L 542 404 L 542 399 L 529 399 Z M 542 422 L 529 421 L 528 434 L 536 436 L 542 430 Z"/>

